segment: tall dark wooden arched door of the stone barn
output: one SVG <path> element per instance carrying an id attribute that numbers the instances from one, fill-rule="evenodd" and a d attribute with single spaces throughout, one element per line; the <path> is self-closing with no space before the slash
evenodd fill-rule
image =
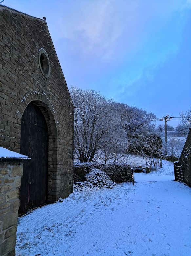
<path id="1" fill-rule="evenodd" d="M 23 213 L 47 200 L 48 128 L 40 108 L 33 103 L 22 116 L 20 152 L 31 158 L 23 164 L 19 196 L 19 213 Z"/>

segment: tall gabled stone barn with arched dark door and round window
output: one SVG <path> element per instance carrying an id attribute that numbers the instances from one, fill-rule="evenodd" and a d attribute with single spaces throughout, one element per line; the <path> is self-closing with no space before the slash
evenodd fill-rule
<path id="1" fill-rule="evenodd" d="M 73 192 L 73 108 L 46 18 L 0 5 L 0 146 L 31 158 L 20 213 Z"/>

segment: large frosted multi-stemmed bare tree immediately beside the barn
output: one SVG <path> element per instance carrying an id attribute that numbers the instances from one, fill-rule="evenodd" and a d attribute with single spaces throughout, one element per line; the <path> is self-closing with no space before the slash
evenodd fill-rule
<path id="1" fill-rule="evenodd" d="M 74 151 L 81 162 L 92 161 L 107 143 L 110 127 L 108 101 L 99 92 L 71 87 L 74 102 Z"/>

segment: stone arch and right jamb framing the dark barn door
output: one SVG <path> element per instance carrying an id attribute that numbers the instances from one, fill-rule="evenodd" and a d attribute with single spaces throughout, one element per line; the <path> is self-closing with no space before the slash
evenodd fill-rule
<path id="1" fill-rule="evenodd" d="M 38 106 L 43 113 L 47 127 L 48 127 L 48 191 L 47 201 L 54 202 L 56 200 L 56 183 L 57 177 L 57 148 L 58 148 L 58 134 L 59 122 L 53 104 L 47 98 L 46 94 L 39 91 L 28 92 L 20 101 L 16 110 L 15 118 L 21 120 L 24 110 L 28 104 L 32 102 Z M 55 193 L 55 194 L 54 194 Z"/>

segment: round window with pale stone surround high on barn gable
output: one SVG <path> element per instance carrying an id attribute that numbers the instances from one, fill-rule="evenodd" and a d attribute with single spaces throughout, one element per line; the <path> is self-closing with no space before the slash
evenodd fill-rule
<path id="1" fill-rule="evenodd" d="M 38 62 L 40 70 L 46 78 L 50 75 L 50 61 L 48 59 L 48 55 L 44 49 L 39 50 L 38 54 Z"/>

